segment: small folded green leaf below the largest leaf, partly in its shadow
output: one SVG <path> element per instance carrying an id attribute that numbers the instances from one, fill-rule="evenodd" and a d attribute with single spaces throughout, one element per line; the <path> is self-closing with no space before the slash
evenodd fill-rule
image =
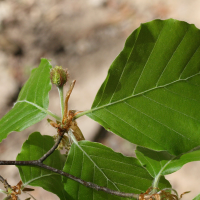
<path id="1" fill-rule="evenodd" d="M 135 152 L 140 163 L 153 177 L 171 174 L 178 171 L 186 163 L 200 160 L 200 150 L 181 156 L 173 156 L 166 151 L 158 152 L 143 147 L 137 147 Z"/>

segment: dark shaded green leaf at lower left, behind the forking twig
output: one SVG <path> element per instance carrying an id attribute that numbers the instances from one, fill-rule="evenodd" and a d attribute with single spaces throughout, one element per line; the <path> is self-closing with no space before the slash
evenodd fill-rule
<path id="1" fill-rule="evenodd" d="M 38 160 L 52 146 L 54 140 L 50 136 L 42 136 L 39 132 L 32 133 L 23 144 L 21 153 L 18 154 L 18 161 Z M 62 170 L 65 157 L 58 150 L 54 151 L 44 164 Z M 61 200 L 67 200 L 67 193 L 64 190 L 62 177 L 49 170 L 34 166 L 17 166 L 24 186 L 39 186 L 56 194 Z"/>

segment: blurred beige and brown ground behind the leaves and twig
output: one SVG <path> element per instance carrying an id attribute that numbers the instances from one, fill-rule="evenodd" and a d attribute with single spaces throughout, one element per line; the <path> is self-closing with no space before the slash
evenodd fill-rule
<path id="1" fill-rule="evenodd" d="M 0 118 L 11 109 L 41 57 L 50 59 L 53 66 L 68 68 L 70 79 L 77 80 L 70 109 L 89 109 L 109 66 L 133 30 L 156 18 L 175 18 L 200 28 L 199 10 L 199 0 L 0 0 Z M 49 109 L 60 114 L 55 87 Z M 134 156 L 133 144 L 88 117 L 81 117 L 78 124 L 86 139 Z M 13 132 L 0 144 L 0 160 L 14 160 L 34 131 L 56 134 L 46 120 L 23 132 Z M 199 169 L 200 162 L 193 162 L 166 177 L 180 194 L 191 191 L 183 200 L 200 193 Z M 20 180 L 15 166 L 0 166 L 0 174 L 11 185 Z M 39 200 L 58 200 L 41 188 L 31 194 Z"/>

